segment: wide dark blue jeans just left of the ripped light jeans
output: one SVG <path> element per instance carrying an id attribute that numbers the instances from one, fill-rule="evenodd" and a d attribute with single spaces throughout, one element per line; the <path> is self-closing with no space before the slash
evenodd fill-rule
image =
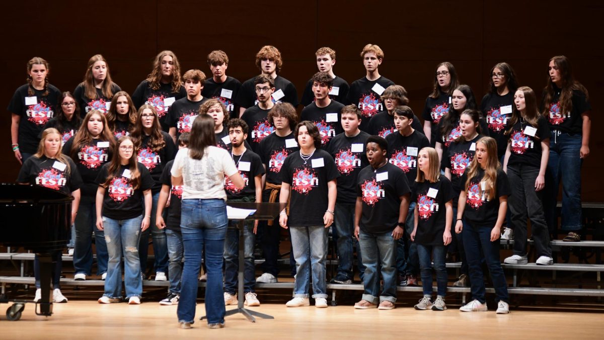
<path id="1" fill-rule="evenodd" d="M 102 230 L 98 230 L 95 196 L 82 196 L 76 217 L 76 248 L 74 249 L 75 274 L 92 273 L 92 230 L 97 248 L 97 275 L 107 272 L 107 245 Z"/>

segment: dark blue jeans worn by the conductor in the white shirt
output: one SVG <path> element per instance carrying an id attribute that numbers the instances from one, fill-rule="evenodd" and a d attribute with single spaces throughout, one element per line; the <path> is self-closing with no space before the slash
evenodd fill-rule
<path id="1" fill-rule="evenodd" d="M 185 265 L 182 269 L 181 300 L 176 314 L 179 322 L 193 322 L 197 300 L 199 269 L 205 251 L 208 281 L 205 313 L 208 324 L 225 321 L 222 294 L 222 254 L 226 235 L 226 202 L 222 199 L 184 199 L 181 210 Z"/>

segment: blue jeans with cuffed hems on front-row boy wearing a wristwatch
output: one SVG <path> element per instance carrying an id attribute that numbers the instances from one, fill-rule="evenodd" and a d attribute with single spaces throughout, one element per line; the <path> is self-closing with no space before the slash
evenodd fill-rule
<path id="1" fill-rule="evenodd" d="M 363 265 L 365 275 L 363 276 L 362 299 L 377 304 L 382 301 L 396 302 L 396 240 L 392 232 L 373 234 L 359 231 L 359 245 L 363 253 Z M 377 274 L 378 266 L 381 265 L 384 289 L 380 293 L 380 280 Z"/>

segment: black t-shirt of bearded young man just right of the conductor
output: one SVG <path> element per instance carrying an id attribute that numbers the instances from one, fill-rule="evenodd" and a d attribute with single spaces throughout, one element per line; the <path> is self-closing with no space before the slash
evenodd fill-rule
<path id="1" fill-rule="evenodd" d="M 260 156 L 252 150 L 245 150 L 245 152 L 239 156 L 231 153 L 231 156 L 239 170 L 239 175 L 243 178 L 245 186 L 242 189 L 237 189 L 233 184 L 233 181 L 225 175 L 226 199 L 240 199 L 248 196 L 252 196 L 255 199 L 255 177 L 262 176 L 265 173 Z"/>

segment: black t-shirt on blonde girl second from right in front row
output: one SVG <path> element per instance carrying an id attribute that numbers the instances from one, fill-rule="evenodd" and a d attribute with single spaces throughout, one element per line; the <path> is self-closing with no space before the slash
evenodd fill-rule
<path id="1" fill-rule="evenodd" d="M 420 245 L 443 246 L 447 210 L 446 202 L 454 196 L 459 196 L 452 190 L 451 182 L 445 176 L 440 176 L 435 183 L 429 181 L 415 182 L 411 193 L 411 202 L 417 203 L 417 231 L 415 242 Z M 453 225 L 451 224 L 451 227 Z"/>

